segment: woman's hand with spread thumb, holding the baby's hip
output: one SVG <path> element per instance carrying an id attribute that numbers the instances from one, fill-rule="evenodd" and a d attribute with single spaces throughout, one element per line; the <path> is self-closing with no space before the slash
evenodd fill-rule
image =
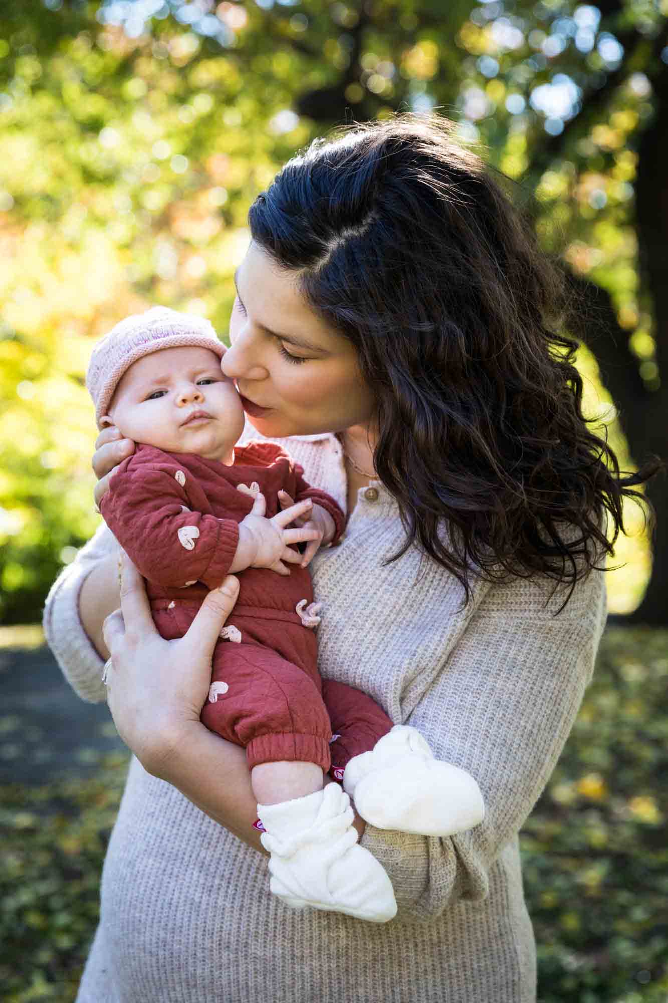
<path id="1" fill-rule="evenodd" d="M 122 557 L 120 609 L 103 626 L 111 652 L 107 703 L 118 734 L 149 773 L 160 776 L 200 724 L 214 648 L 238 594 L 239 581 L 229 575 L 209 593 L 188 633 L 165 641 L 153 624 L 143 579 Z"/>

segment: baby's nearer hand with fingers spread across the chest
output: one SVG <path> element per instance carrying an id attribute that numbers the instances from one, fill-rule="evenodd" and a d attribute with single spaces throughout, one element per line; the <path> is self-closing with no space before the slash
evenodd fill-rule
<path id="1" fill-rule="evenodd" d="M 293 505 L 272 519 L 265 518 L 267 505 L 265 496 L 258 493 L 248 516 L 239 524 L 239 546 L 231 566 L 231 571 L 244 568 L 269 568 L 279 575 L 289 575 L 288 564 L 301 564 L 302 556 L 293 551 L 290 544 L 301 544 L 315 540 L 318 533 L 307 526 L 286 529 L 290 523 L 310 513 L 310 498 Z"/>

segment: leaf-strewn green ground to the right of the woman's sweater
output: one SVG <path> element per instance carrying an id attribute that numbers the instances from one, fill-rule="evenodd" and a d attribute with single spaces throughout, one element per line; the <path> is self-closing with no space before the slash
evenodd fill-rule
<path id="1" fill-rule="evenodd" d="M 668 996 L 668 632 L 609 628 L 522 839 L 541 1003 Z"/>

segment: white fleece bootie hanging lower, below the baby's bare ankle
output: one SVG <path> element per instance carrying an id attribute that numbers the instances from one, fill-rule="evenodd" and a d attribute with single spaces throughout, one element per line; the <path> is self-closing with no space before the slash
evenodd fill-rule
<path id="1" fill-rule="evenodd" d="M 280 804 L 258 804 L 271 854 L 271 890 L 293 909 L 345 913 L 371 923 L 396 914 L 382 865 L 357 843 L 350 798 L 338 783 Z"/>

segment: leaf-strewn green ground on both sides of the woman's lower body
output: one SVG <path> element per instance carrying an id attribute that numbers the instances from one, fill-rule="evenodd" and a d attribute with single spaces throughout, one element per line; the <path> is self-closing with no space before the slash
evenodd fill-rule
<path id="1" fill-rule="evenodd" d="M 524 828 L 541 1003 L 668 994 L 667 680 L 668 631 L 606 631 L 573 734 Z M 107 755 L 91 780 L 0 789 L 7 1003 L 74 999 L 126 763 Z"/>

